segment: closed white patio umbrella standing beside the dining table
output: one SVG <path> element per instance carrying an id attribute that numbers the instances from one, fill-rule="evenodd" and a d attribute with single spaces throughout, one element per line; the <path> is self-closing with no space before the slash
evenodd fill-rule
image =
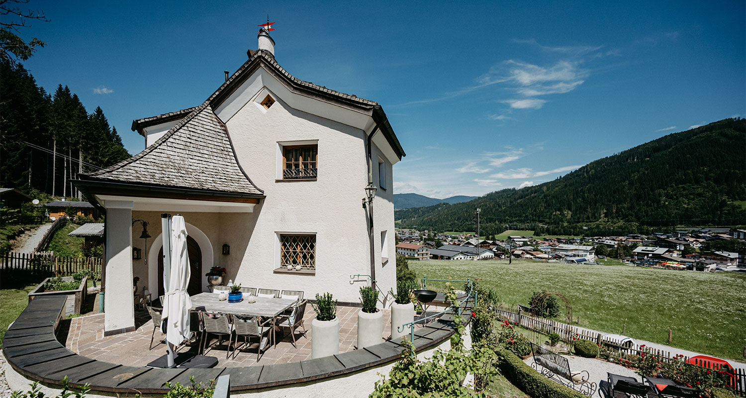
<path id="1" fill-rule="evenodd" d="M 173 346 L 189 339 L 189 310 L 192 300 L 186 287 L 189 285 L 189 255 L 186 251 L 186 224 L 184 217 L 161 214 L 163 227 L 163 321 L 161 332 L 166 333 L 168 349 L 167 366 L 174 366 Z M 163 330 L 165 326 L 165 331 Z"/>

